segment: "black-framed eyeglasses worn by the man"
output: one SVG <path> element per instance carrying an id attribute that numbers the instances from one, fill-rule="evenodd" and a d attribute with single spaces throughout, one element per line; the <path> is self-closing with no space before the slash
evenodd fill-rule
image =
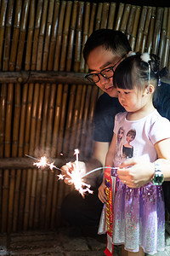
<path id="1" fill-rule="evenodd" d="M 122 56 L 122 58 L 124 57 L 125 55 Z M 115 71 L 113 70 L 114 67 L 116 67 L 116 65 L 122 61 L 122 58 L 116 62 L 116 64 L 114 66 L 111 66 L 111 67 L 106 67 L 104 69 L 102 69 L 99 73 L 88 73 L 86 76 L 85 76 L 85 79 L 88 79 L 88 81 L 90 82 L 94 82 L 94 83 L 98 83 L 100 78 L 99 76 L 102 76 L 103 78 L 105 79 L 111 79 L 115 73 Z"/>

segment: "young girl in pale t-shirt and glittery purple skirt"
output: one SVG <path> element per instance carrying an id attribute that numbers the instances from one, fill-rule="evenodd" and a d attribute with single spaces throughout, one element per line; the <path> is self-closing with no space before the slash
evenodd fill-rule
<path id="1" fill-rule="evenodd" d="M 117 157 L 117 133 L 133 131 L 131 139 L 133 158 L 154 162 L 158 158 L 170 160 L 170 122 L 162 118 L 152 104 L 153 93 L 159 79 L 159 60 L 156 55 L 133 55 L 121 62 L 114 74 L 118 99 L 126 109 L 116 114 L 114 136 L 106 156 L 106 166 L 118 166 L 129 158 Z M 123 137 L 127 144 L 127 138 Z M 159 185 L 152 182 L 138 189 L 127 187 L 117 177 L 113 214 L 113 244 L 123 244 L 128 255 L 154 254 L 164 250 L 164 202 L 161 189 L 163 181 L 161 166 Z M 158 170 L 157 170 L 158 169 Z M 155 177 L 153 175 L 153 177 Z"/>

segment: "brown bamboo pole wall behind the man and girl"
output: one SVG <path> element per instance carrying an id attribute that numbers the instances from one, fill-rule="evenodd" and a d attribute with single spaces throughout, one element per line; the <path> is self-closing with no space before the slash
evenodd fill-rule
<path id="1" fill-rule="evenodd" d="M 0 1 L 0 71 L 86 73 L 82 49 L 96 29 L 126 33 L 134 51 L 170 67 L 170 8 L 54 0 Z M 90 156 L 101 92 L 86 84 L 0 84 L 0 157 Z M 71 189 L 41 169 L 0 169 L 0 231 L 54 229 Z"/>

